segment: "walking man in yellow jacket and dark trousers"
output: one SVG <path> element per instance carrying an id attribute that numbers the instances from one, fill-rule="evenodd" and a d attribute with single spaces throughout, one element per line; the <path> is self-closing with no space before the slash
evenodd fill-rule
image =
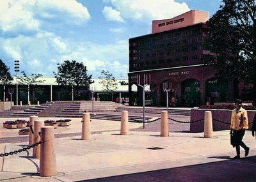
<path id="1" fill-rule="evenodd" d="M 238 159 L 240 158 L 240 146 L 244 148 L 245 156 L 249 154 L 249 148 L 242 141 L 245 130 L 248 129 L 248 116 L 247 111 L 242 107 L 241 99 L 237 99 L 235 104 L 236 109 L 232 110 L 231 115 L 230 139 L 232 146 L 236 147 L 236 156 L 233 159 Z"/>

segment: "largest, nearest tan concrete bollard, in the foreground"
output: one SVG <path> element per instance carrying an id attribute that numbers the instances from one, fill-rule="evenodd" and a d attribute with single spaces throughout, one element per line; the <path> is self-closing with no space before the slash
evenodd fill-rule
<path id="1" fill-rule="evenodd" d="M 54 128 L 53 126 L 43 126 L 41 128 L 40 147 L 40 176 L 56 176 L 56 155 L 54 150 Z"/>

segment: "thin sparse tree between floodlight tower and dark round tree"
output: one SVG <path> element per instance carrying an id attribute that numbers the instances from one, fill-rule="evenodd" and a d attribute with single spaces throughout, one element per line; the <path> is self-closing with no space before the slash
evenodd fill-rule
<path id="1" fill-rule="evenodd" d="M 32 73 L 29 77 L 26 75 L 24 71 L 21 72 L 23 77 L 18 77 L 19 83 L 23 85 L 28 85 L 28 103 L 29 103 L 29 93 L 30 93 L 30 86 L 36 86 L 37 84 L 42 84 L 45 82 L 45 80 L 38 80 L 40 77 L 43 75 L 40 73 Z M 42 90 L 40 88 L 34 87 L 34 89 L 31 91 L 32 92 L 32 98 L 35 97 L 35 93 L 42 94 Z"/>

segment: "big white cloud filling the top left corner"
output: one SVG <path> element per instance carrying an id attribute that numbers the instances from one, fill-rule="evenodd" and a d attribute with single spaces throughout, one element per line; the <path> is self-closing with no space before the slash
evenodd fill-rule
<path id="1" fill-rule="evenodd" d="M 41 30 L 45 19 L 68 24 L 90 19 L 87 8 L 75 0 L 2 0 L 0 12 L 0 34 L 9 36 L 36 33 Z"/>

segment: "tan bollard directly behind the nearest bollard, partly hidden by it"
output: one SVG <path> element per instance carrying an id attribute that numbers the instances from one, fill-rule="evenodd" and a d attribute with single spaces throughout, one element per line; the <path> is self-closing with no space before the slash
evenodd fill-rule
<path id="1" fill-rule="evenodd" d="M 42 126 L 44 126 L 44 121 L 34 121 L 34 144 L 40 142 L 39 132 Z M 40 145 L 33 148 L 33 158 L 40 158 Z"/>

